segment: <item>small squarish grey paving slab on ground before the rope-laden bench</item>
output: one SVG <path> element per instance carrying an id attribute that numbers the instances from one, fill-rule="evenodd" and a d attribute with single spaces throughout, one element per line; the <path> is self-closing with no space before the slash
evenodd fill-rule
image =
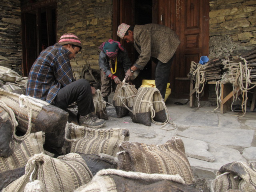
<path id="1" fill-rule="evenodd" d="M 234 128 L 240 129 L 241 124 L 238 122 L 238 117 L 236 116 L 224 116 L 218 114 L 219 117 L 219 128 Z"/>

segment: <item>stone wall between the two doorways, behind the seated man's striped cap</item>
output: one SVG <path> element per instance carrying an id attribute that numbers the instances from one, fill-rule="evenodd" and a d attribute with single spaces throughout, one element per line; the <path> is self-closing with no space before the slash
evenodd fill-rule
<path id="1" fill-rule="evenodd" d="M 98 47 L 112 38 L 112 0 L 59 0 L 57 3 L 57 36 L 74 33 L 82 42 L 82 51 L 71 60 L 75 78 L 84 65 L 99 70 Z"/>

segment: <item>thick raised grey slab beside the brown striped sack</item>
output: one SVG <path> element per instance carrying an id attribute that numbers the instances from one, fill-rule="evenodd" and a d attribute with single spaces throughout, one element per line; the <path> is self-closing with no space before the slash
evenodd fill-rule
<path id="1" fill-rule="evenodd" d="M 208 152 L 208 144 L 204 141 L 179 137 L 182 139 L 187 157 L 214 162 L 214 156 Z"/>

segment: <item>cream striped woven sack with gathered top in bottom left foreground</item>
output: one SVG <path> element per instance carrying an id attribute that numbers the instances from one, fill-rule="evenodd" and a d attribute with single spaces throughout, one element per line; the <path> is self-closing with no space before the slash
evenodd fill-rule
<path id="1" fill-rule="evenodd" d="M 28 160 L 24 176 L 9 184 L 3 192 L 24 192 L 28 186 L 33 187 L 33 182 L 41 184 L 41 191 L 73 192 L 91 180 L 92 173 L 79 154 L 70 153 L 58 158 L 36 154 Z"/>

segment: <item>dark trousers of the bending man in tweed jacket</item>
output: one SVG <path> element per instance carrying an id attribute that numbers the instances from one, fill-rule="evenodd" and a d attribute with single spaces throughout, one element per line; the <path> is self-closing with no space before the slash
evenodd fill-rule
<path id="1" fill-rule="evenodd" d="M 172 57 L 167 63 L 162 63 L 159 60 L 156 62 L 156 88 L 158 88 L 162 98 L 164 99 L 167 83 L 169 81 L 170 76 L 170 68 L 172 66 Z M 153 61 L 156 58 L 152 59 Z"/>

